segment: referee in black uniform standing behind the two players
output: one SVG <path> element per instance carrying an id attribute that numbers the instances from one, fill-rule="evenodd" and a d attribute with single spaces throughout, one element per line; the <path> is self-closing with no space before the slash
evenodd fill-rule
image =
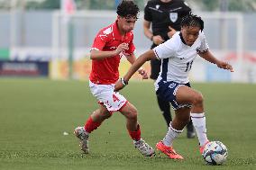
<path id="1" fill-rule="evenodd" d="M 151 49 L 169 40 L 176 31 L 180 31 L 180 22 L 191 9 L 182 0 L 151 0 L 144 8 L 143 30 L 152 41 Z M 156 80 L 160 73 L 161 60 L 151 59 L 151 79 Z M 160 111 L 169 127 L 171 119 L 170 104 L 157 95 Z M 187 138 L 195 138 L 193 123 L 187 123 Z"/>

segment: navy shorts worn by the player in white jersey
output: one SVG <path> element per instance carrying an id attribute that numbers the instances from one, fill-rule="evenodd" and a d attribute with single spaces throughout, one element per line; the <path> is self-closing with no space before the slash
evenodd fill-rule
<path id="1" fill-rule="evenodd" d="M 176 101 L 176 92 L 178 90 L 178 87 L 181 85 L 186 85 L 188 87 L 191 87 L 189 83 L 187 84 L 178 84 L 176 82 L 163 82 L 160 81 L 158 83 L 159 88 L 156 92 L 156 94 L 165 101 L 168 101 L 169 103 L 171 103 L 173 110 L 178 110 L 180 108 L 183 107 L 188 107 L 191 108 L 192 105 L 187 103 L 187 104 L 178 104 Z"/>

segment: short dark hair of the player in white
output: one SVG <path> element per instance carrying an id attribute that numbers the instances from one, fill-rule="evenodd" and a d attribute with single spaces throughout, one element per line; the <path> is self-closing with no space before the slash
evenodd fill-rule
<path id="1" fill-rule="evenodd" d="M 190 12 L 182 18 L 180 26 L 181 27 L 184 27 L 184 26 L 199 27 L 200 30 L 203 31 L 204 30 L 204 21 L 201 19 L 201 17 Z"/>

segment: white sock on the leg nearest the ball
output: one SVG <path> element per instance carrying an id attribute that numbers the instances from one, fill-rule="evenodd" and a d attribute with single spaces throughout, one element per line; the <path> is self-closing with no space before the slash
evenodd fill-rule
<path id="1" fill-rule="evenodd" d="M 204 146 L 207 141 L 206 136 L 206 117 L 205 112 L 202 113 L 190 113 L 191 120 L 193 121 L 193 125 L 197 131 L 197 137 L 200 143 L 200 147 Z"/>

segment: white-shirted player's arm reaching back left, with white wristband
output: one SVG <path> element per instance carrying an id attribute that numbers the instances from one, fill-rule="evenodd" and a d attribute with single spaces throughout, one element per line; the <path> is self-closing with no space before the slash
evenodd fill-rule
<path id="1" fill-rule="evenodd" d="M 128 82 L 130 80 L 130 78 L 133 76 L 133 74 L 140 68 L 142 67 L 142 65 L 148 61 L 151 60 L 153 58 L 156 58 L 155 53 L 152 49 L 146 51 L 145 53 L 143 53 L 139 58 L 137 58 L 135 60 L 135 62 L 133 63 L 132 67 L 130 67 L 130 69 L 128 70 L 128 72 L 123 76 L 123 78 L 121 78 L 120 80 L 118 80 L 115 85 L 114 85 L 114 91 L 119 91 L 121 90 L 125 85 L 128 85 Z"/>

